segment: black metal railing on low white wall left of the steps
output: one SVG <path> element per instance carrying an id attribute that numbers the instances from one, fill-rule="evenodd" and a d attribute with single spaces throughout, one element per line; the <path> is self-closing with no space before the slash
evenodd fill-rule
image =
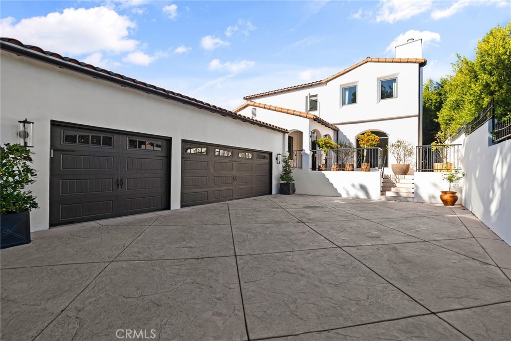
<path id="1" fill-rule="evenodd" d="M 311 152 L 312 170 L 379 170 L 383 165 L 381 148 L 318 149 Z"/>

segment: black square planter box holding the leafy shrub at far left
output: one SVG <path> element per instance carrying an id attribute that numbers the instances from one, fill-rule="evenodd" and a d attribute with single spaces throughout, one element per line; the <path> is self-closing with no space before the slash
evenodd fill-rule
<path id="1" fill-rule="evenodd" d="M 0 248 L 30 243 L 30 212 L 0 215 Z"/>

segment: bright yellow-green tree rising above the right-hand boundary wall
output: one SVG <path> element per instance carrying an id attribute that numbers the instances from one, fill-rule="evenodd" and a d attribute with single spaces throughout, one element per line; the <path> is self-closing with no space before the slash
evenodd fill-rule
<path id="1" fill-rule="evenodd" d="M 498 119 L 511 116 L 511 21 L 505 28 L 491 29 L 478 41 L 475 51 L 474 60 L 457 55 L 454 75 L 445 81 L 445 103 L 438 114 L 439 140 L 454 135 L 492 98 Z"/>

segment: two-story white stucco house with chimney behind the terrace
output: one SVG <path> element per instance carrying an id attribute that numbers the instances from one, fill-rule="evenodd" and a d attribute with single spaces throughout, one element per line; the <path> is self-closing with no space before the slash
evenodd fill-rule
<path id="1" fill-rule="evenodd" d="M 233 111 L 288 129 L 294 154 L 309 155 L 322 137 L 358 147 L 357 136 L 371 131 L 386 155 L 385 146 L 398 139 L 422 144 L 425 65 L 422 40 L 410 39 L 396 47 L 396 58 L 367 57 L 322 80 L 246 96 Z M 313 162 L 308 167 L 314 169 Z"/>

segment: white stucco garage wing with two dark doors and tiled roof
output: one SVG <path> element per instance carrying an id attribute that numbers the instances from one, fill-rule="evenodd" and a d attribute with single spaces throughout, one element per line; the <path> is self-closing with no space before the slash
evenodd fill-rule
<path id="1" fill-rule="evenodd" d="M 278 192 L 288 131 L 1 38 L 0 142 L 33 122 L 32 231 Z M 257 137 L 257 138 L 255 138 Z"/>

